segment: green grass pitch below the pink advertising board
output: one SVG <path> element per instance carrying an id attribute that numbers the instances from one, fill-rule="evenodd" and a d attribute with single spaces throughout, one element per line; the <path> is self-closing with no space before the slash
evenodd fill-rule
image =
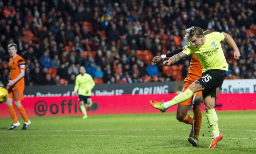
<path id="1" fill-rule="evenodd" d="M 12 120 L 2 118 L 0 154 L 256 153 L 256 111 L 217 112 L 224 137 L 213 150 L 202 114 L 199 147 L 187 142 L 190 125 L 178 122 L 175 113 L 34 117 L 27 130 L 21 125 L 11 131 Z"/>

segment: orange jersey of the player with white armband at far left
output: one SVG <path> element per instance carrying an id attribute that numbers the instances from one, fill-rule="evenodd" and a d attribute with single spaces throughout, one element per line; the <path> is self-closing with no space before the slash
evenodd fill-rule
<path id="1" fill-rule="evenodd" d="M 10 58 L 9 67 L 10 79 L 13 80 L 20 74 L 20 70 L 26 69 L 25 60 L 20 55 L 16 55 L 14 58 Z M 25 86 L 24 77 L 17 81 L 14 86 Z"/>

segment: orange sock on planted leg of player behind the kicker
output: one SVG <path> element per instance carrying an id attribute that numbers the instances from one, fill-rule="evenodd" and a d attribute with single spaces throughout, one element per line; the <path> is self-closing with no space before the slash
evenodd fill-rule
<path id="1" fill-rule="evenodd" d="M 193 109 L 193 129 L 194 129 L 194 137 L 199 138 L 199 132 L 202 123 L 202 112 L 200 108 Z"/>

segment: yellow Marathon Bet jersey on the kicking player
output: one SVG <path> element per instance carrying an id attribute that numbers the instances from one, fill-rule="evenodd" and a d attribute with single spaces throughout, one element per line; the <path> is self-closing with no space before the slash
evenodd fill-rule
<path id="1" fill-rule="evenodd" d="M 205 35 L 205 38 L 204 44 L 199 48 L 194 48 L 190 42 L 182 52 L 187 55 L 194 53 L 204 68 L 202 72 L 212 69 L 228 71 L 228 63 L 220 43 L 224 40 L 224 34 L 216 31 Z"/>

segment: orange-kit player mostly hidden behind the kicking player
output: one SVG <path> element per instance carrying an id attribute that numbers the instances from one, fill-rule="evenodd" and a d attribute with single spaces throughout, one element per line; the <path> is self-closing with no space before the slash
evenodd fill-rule
<path id="1" fill-rule="evenodd" d="M 212 31 L 209 31 L 209 30 L 204 31 L 204 35 L 207 35 L 210 33 L 212 33 Z M 171 51 L 170 53 L 167 53 L 165 55 L 156 56 L 153 58 L 152 61 L 153 63 L 157 64 L 162 59 L 172 57 L 173 55 L 176 55 L 182 52 L 184 49 L 185 49 L 185 46 L 183 48 Z M 194 54 L 192 54 L 192 58 L 190 61 L 190 68 L 188 70 L 187 77 L 184 79 L 182 92 L 184 92 L 190 86 L 190 84 L 192 84 L 195 80 L 199 79 L 202 76 L 202 69 L 203 67 L 201 63 L 199 63 L 198 58 Z M 186 124 L 190 124 L 192 126 L 190 130 L 190 135 L 187 140 L 194 147 L 198 147 L 198 138 L 199 138 L 199 132 L 200 132 L 201 123 L 202 123 L 202 112 L 200 110 L 202 101 L 203 101 L 202 91 L 197 91 L 187 101 L 179 103 L 177 108 L 177 115 L 176 115 L 177 120 Z M 187 114 L 187 111 L 191 105 L 193 105 L 192 106 L 193 118 Z"/>

